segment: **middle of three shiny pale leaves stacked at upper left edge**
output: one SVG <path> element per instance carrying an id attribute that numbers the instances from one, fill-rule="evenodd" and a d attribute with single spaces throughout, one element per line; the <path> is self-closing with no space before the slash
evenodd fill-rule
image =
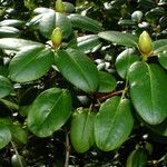
<path id="1" fill-rule="evenodd" d="M 0 27 L 0 38 L 16 38 L 20 36 L 20 31 L 13 27 Z"/>

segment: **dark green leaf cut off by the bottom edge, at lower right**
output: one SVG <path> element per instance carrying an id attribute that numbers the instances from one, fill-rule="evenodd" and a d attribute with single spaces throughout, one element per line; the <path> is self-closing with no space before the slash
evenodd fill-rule
<path id="1" fill-rule="evenodd" d="M 147 151 L 144 148 L 131 151 L 126 167 L 147 167 Z"/>

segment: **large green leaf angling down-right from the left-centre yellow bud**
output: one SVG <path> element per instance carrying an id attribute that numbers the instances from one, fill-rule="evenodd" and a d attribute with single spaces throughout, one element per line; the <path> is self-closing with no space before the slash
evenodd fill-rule
<path id="1" fill-rule="evenodd" d="M 60 50 L 56 55 L 56 66 L 60 73 L 77 88 L 86 92 L 97 90 L 98 70 L 85 53 L 75 49 Z"/>

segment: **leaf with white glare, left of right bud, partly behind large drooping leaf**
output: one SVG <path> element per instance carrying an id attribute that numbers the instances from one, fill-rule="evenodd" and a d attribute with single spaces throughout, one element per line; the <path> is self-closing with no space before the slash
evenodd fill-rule
<path id="1" fill-rule="evenodd" d="M 129 67 L 138 60 L 139 57 L 134 53 L 134 49 L 124 50 L 116 59 L 116 68 L 119 76 L 126 79 Z"/>

